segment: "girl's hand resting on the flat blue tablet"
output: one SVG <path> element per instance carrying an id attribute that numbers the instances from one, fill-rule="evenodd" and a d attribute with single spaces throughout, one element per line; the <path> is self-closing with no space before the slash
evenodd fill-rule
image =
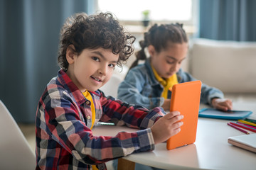
<path id="1" fill-rule="evenodd" d="M 232 101 L 228 98 L 213 98 L 212 106 L 222 111 L 232 110 L 233 108 Z"/>

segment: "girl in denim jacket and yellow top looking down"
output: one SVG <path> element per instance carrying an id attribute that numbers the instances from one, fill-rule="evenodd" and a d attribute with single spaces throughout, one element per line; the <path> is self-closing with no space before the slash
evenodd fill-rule
<path id="1" fill-rule="evenodd" d="M 196 80 L 181 69 L 181 62 L 188 52 L 186 33 L 178 23 L 161 26 L 155 24 L 148 33 L 144 33 L 144 40 L 139 44 L 142 49 L 137 52 L 137 60 L 119 85 L 118 98 L 149 109 L 161 106 L 169 111 L 169 88 L 174 84 Z M 145 48 L 149 58 L 146 58 Z M 137 65 L 139 60 L 146 61 Z M 232 101 L 223 97 L 220 90 L 202 84 L 201 103 L 223 111 L 232 109 Z"/>

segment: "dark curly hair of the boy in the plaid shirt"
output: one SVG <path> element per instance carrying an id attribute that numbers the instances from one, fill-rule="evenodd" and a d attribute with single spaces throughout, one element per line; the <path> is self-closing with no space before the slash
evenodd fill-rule
<path id="1" fill-rule="evenodd" d="M 72 26 L 60 35 L 58 65 L 65 72 L 68 70 L 66 51 L 70 45 L 74 45 L 77 55 L 84 49 L 112 49 L 113 54 L 119 54 L 117 66 L 122 67 L 122 62 L 134 52 L 134 40 L 135 37 L 124 30 L 112 13 L 88 17 L 78 15 Z"/>

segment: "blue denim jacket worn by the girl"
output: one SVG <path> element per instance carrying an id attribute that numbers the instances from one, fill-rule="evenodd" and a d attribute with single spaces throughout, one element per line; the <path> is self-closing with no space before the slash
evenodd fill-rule
<path id="1" fill-rule="evenodd" d="M 179 69 L 176 74 L 178 83 L 196 80 L 182 69 Z M 154 77 L 150 60 L 147 59 L 144 64 L 139 64 L 129 70 L 124 81 L 119 84 L 117 98 L 151 109 L 164 104 L 164 98 L 161 97 L 163 90 L 164 87 Z M 202 84 L 201 103 L 210 104 L 212 98 L 223 97 L 223 92 L 219 89 Z M 168 98 L 171 98 L 171 91 L 168 93 Z"/>

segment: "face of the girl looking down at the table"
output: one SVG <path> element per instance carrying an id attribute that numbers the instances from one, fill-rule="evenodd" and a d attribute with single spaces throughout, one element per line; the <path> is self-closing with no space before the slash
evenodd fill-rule
<path id="1" fill-rule="evenodd" d="M 163 79 L 168 79 L 181 68 L 181 62 L 186 58 L 188 43 L 171 43 L 168 48 L 156 52 L 153 45 L 148 47 L 151 64 Z"/>

